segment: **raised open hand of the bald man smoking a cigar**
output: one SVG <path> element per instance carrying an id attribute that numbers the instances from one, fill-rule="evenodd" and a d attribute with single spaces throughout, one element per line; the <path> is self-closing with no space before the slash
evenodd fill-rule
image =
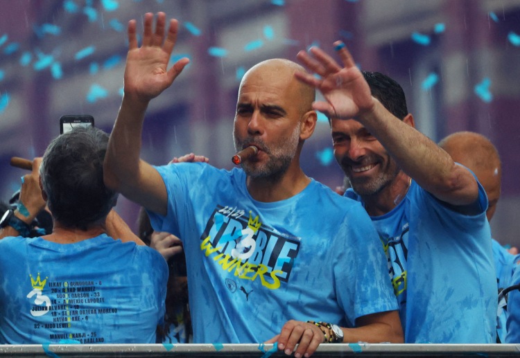
<path id="1" fill-rule="evenodd" d="M 169 21 L 166 37 L 164 35 L 166 14 L 157 13 L 155 32 L 153 32 L 153 14 L 144 15 L 144 33 L 141 47 L 137 44 L 136 21 L 128 22 L 128 55 L 126 57 L 124 91 L 131 100 L 148 103 L 171 86 L 189 62 L 183 57 L 168 70 L 173 47 L 177 42 L 178 22 Z"/>

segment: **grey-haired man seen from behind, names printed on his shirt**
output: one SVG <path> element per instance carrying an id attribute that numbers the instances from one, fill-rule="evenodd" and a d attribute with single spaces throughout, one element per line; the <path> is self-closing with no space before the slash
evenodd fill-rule
<path id="1" fill-rule="evenodd" d="M 117 197 L 103 184 L 107 141 L 100 129 L 78 128 L 47 147 L 40 186 L 53 232 L 2 232 L 0 343 L 155 343 L 168 270 L 135 235 L 120 231 L 130 242 L 107 235 L 128 228 L 119 217 L 107 219 Z"/>

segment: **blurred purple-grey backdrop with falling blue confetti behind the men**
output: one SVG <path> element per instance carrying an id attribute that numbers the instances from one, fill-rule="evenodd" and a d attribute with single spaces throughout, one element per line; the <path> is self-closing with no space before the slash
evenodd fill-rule
<path id="1" fill-rule="evenodd" d="M 191 63 L 153 100 L 142 157 L 153 164 L 189 152 L 232 168 L 232 123 L 243 73 L 300 49 L 332 53 L 341 39 L 358 66 L 395 78 L 418 129 L 433 141 L 484 134 L 503 161 L 494 238 L 520 246 L 520 0 L 0 0 L 0 199 L 24 170 L 11 156 L 42 156 L 60 116 L 91 114 L 110 132 L 121 102 L 126 25 L 145 12 L 180 21 L 173 61 Z M 304 145 L 306 173 L 335 188 L 327 118 Z M 117 211 L 136 228 L 137 205 Z"/>

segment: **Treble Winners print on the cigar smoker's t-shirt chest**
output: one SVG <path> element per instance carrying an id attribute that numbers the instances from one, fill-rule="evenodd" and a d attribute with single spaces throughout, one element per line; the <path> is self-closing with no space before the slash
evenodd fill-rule
<path id="1" fill-rule="evenodd" d="M 258 215 L 217 206 L 200 237 L 200 249 L 235 278 L 260 280 L 278 289 L 291 276 L 300 240 L 279 233 L 261 222 Z M 229 288 L 229 287 L 228 287 Z"/>

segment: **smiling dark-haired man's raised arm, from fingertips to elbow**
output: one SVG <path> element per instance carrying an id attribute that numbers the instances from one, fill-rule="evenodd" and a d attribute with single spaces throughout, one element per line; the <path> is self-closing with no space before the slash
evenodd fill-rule
<path id="1" fill-rule="evenodd" d="M 432 195 L 456 206 L 474 204 L 478 186 L 471 172 L 456 165 L 451 156 L 414 128 L 411 114 L 400 120 L 370 93 L 363 74 L 343 42 L 335 42 L 344 66 L 320 48 L 300 51 L 297 58 L 311 72 L 295 76 L 319 89 L 325 101 L 313 108 L 331 118 L 358 120 L 385 147 L 399 167 Z"/>

